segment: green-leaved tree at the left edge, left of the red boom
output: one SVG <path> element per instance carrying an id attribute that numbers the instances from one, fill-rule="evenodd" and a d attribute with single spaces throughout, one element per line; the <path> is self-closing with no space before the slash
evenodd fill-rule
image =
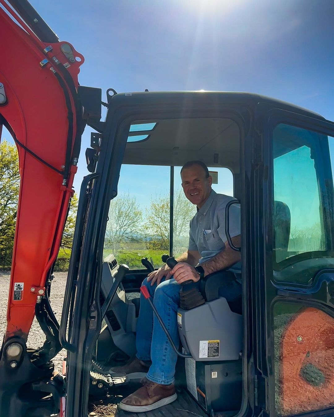
<path id="1" fill-rule="evenodd" d="M 0 266 L 10 266 L 13 254 L 16 213 L 20 189 L 18 151 L 0 143 Z"/>

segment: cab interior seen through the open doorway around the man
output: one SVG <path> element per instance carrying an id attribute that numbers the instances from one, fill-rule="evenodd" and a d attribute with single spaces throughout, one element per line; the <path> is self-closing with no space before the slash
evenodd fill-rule
<path id="1" fill-rule="evenodd" d="M 134 97 L 137 95 L 141 94 L 133 94 Z M 143 98 L 152 97 L 154 100 L 158 96 L 158 93 L 142 94 Z M 178 103 L 182 96 L 183 94 L 175 93 L 175 103 Z M 127 97 L 131 98 L 132 95 L 127 95 Z M 117 98 L 117 95 L 114 98 Z M 199 98 L 201 98 L 200 95 Z M 115 240 L 119 231 L 113 229 L 117 228 L 119 220 L 114 219 L 116 216 L 114 207 L 119 206 L 114 205 L 117 204 L 118 195 L 124 206 L 127 203 L 127 200 L 124 200 L 124 193 L 119 192 L 119 188 L 123 188 L 123 182 L 127 183 L 129 178 L 132 181 L 132 184 L 127 185 L 127 198 L 131 196 L 131 192 L 142 192 L 144 188 L 141 183 L 147 180 L 150 181 L 150 186 L 145 188 L 147 193 L 145 197 L 148 201 L 156 192 L 169 191 L 167 220 L 161 221 L 161 226 L 168 229 L 168 246 L 164 248 L 169 251 L 167 258 L 168 256 L 177 257 L 187 251 L 189 222 L 196 212 L 195 206 L 190 208 L 189 214 L 184 215 L 180 212 L 186 201 L 180 185 L 180 168 L 189 161 L 189 158 L 201 158 L 210 167 L 210 173 L 216 177 L 217 184 L 214 188 L 217 192 L 225 191 L 225 193 L 234 194 L 235 200 L 231 203 L 238 206 L 240 213 L 240 202 L 237 198 L 240 198 L 241 194 L 240 128 L 235 121 L 235 116 L 229 112 L 206 115 L 201 114 L 202 111 L 199 110 L 199 115 L 196 117 L 192 106 L 188 110 L 184 109 L 184 114 L 179 109 L 175 109 L 170 114 L 160 111 L 150 113 L 149 117 L 145 112 L 143 116 L 135 115 L 132 120 L 127 121 L 126 142 L 123 143 L 123 149 L 120 151 L 123 152 L 123 157 L 119 154 L 119 172 L 116 174 L 119 181 L 115 184 L 115 197 L 106 206 L 108 218 L 105 225 L 99 297 L 103 324 L 93 352 L 91 394 L 99 395 L 104 389 L 109 391 L 117 389 L 121 392 L 122 386 L 139 382 L 144 377 L 144 374 L 131 376 L 115 374 L 109 369 L 118 364 L 124 364 L 136 354 L 135 337 L 140 309 L 139 288 L 149 272 L 154 271 L 154 267 L 157 269 L 163 262 L 161 259 L 163 249 L 159 251 L 150 244 L 150 239 L 152 239 L 149 235 L 150 229 L 148 235 L 145 235 L 148 239 L 146 243 L 145 241 L 140 243 L 138 237 L 140 230 L 137 230 L 136 245 L 122 241 L 118 246 L 123 244 L 126 249 L 121 250 L 116 246 Z M 98 158 L 97 172 L 103 153 L 103 139 L 101 136 L 97 139 L 96 133 L 92 135 L 94 141 L 99 141 L 99 148 L 95 155 L 95 159 Z M 88 150 L 87 155 L 90 152 Z M 155 175 L 156 178 L 149 177 L 149 173 Z M 147 175 L 146 178 L 145 175 Z M 224 184 L 225 190 L 222 188 Z M 91 192 L 94 192 L 95 186 L 93 183 Z M 83 191 L 86 192 L 86 189 Z M 158 198 L 161 200 L 164 196 L 160 193 Z M 231 205 L 227 207 L 227 218 Z M 132 207 L 132 210 L 136 208 Z M 184 224 L 181 231 L 175 219 Z M 149 221 L 149 216 L 142 220 L 142 227 L 145 226 L 146 220 Z M 223 227 L 225 228 L 225 224 Z M 230 240 L 228 223 L 226 227 L 225 232 Z M 110 236 L 113 236 L 113 242 Z M 112 246 L 111 243 L 113 243 Z M 137 260 L 137 263 L 134 260 L 136 254 L 130 250 L 134 246 L 139 259 L 142 257 L 141 260 Z M 151 252 L 146 249 L 147 246 L 152 248 Z M 235 248 L 235 250 L 240 251 L 240 248 Z M 121 261 L 118 261 L 118 255 Z M 150 259 L 153 257 L 154 265 L 144 255 Z M 183 396 L 187 398 L 187 402 L 190 402 L 192 398 L 193 412 L 200 413 L 200 415 L 218 410 L 236 414 L 241 405 L 242 298 L 238 297 L 229 305 L 220 295 L 220 289 L 226 282 L 232 280 L 241 288 L 241 263 L 233 265 L 228 271 L 220 271 L 219 274 L 205 277 L 197 290 L 191 289 L 191 284 L 183 286 L 182 289 L 182 301 L 177 314 L 181 345 L 175 347 L 179 355 L 177 369 L 180 370 L 177 373 L 177 384 L 182 391 L 179 393 L 177 402 L 182 401 Z M 64 309 L 67 310 L 66 305 Z M 74 311 L 73 314 L 75 314 Z M 221 321 L 220 317 L 224 317 L 224 320 Z M 71 366 L 70 363 L 69 359 L 68 367 Z M 130 389 L 129 386 L 126 388 L 124 392 Z M 173 413 L 176 413 L 175 407 L 178 407 L 177 404 L 174 404 Z M 182 407 L 180 403 L 179 407 Z"/>

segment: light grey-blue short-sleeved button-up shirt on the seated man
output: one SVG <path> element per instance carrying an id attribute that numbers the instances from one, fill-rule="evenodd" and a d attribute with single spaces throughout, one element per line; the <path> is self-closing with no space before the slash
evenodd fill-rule
<path id="1" fill-rule="evenodd" d="M 217 194 L 212 190 L 207 201 L 191 219 L 188 249 L 200 253 L 199 264 L 208 261 L 225 249 L 225 242 L 227 241 L 225 208 L 231 200 L 235 200 L 235 198 Z M 230 206 L 229 224 L 230 236 L 238 236 L 240 234 L 239 204 Z"/>

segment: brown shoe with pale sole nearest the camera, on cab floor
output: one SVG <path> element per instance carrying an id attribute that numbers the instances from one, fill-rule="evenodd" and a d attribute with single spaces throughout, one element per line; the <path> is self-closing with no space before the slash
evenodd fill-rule
<path id="1" fill-rule="evenodd" d="M 143 386 L 119 403 L 119 408 L 134 413 L 151 411 L 177 399 L 175 385 L 161 385 L 142 380 Z"/>

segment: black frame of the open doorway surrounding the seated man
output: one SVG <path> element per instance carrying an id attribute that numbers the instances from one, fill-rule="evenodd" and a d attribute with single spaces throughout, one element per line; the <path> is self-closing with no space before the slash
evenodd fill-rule
<path id="1" fill-rule="evenodd" d="M 215 93 L 210 93 L 214 96 Z M 178 96 L 178 97 L 177 97 Z M 126 138 L 129 133 L 131 121 L 141 118 L 172 118 L 177 115 L 179 118 L 189 117 L 230 117 L 238 123 L 240 129 L 240 162 L 241 170 L 244 170 L 245 161 L 245 138 L 251 134 L 251 112 L 246 103 L 240 103 L 238 97 L 228 99 L 225 96 L 221 99 L 213 97 L 208 99 L 206 95 L 195 95 L 193 93 L 179 94 L 169 93 L 167 95 L 154 96 L 117 94 L 110 100 L 106 117 L 104 133 L 101 139 L 101 152 L 96 168 L 96 179 L 91 193 L 91 199 L 86 218 L 85 234 L 81 250 L 81 259 L 77 280 L 76 297 L 72 334 L 70 343 L 79 347 L 74 352 L 69 352 L 67 361 L 67 401 L 66 417 L 85 415 L 89 393 L 89 369 L 94 344 L 99 335 L 101 326 L 101 306 L 99 304 L 99 293 L 101 287 L 101 266 L 103 261 L 104 232 L 111 198 L 117 195 L 117 184 L 119 171 L 123 160 Z M 226 98 L 227 97 L 227 98 Z M 193 102 L 191 102 L 193 100 Z M 219 103 L 220 102 L 220 103 Z M 218 106 L 218 103 L 220 106 Z M 145 117 L 146 115 L 146 117 Z M 247 141 L 250 143 L 250 140 Z M 241 171 L 243 172 L 243 171 Z M 246 174 L 247 175 L 247 174 Z M 245 179 L 245 183 L 248 180 Z M 243 187 L 247 187 L 243 185 Z M 243 188 L 243 193 L 245 193 Z M 245 194 L 242 194 L 245 195 Z M 243 203 L 243 201 L 241 201 Z M 246 212 L 242 213 L 242 227 L 246 224 Z M 244 229 L 246 230 L 246 229 Z M 242 239 L 246 241 L 246 239 Z M 245 245 L 245 244 L 243 244 Z M 246 258 L 246 250 L 243 259 Z M 245 271 L 247 276 L 247 266 Z M 246 280 L 243 288 L 246 287 Z M 245 342 L 248 352 L 248 299 L 243 299 L 245 311 Z M 246 353 L 246 352 L 245 352 Z M 248 355 L 243 357 L 243 403 L 238 415 L 250 414 L 249 409 L 249 384 L 251 379 L 248 375 Z M 251 395 L 252 395 L 251 391 Z"/>

